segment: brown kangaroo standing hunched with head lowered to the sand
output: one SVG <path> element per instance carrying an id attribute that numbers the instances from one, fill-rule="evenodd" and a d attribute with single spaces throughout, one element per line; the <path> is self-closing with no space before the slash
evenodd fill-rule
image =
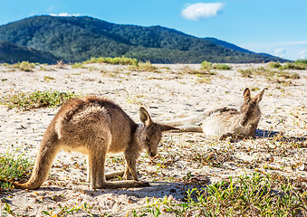
<path id="1" fill-rule="evenodd" d="M 176 129 L 154 123 L 146 109 L 139 109 L 142 124 L 136 124 L 118 105 L 108 99 L 89 96 L 70 99 L 47 127 L 34 171 L 24 183 L 13 183 L 18 189 L 41 187 L 53 165 L 53 159 L 61 150 L 77 151 L 88 156 L 88 179 L 91 189 L 130 188 L 149 186 L 138 181 L 137 160 L 143 149 L 149 156 L 156 156 L 161 132 Z M 108 153 L 123 152 L 126 169 L 105 174 L 105 158 Z M 126 180 L 107 182 L 107 179 L 123 175 Z M 133 180 L 128 180 L 132 175 Z"/>

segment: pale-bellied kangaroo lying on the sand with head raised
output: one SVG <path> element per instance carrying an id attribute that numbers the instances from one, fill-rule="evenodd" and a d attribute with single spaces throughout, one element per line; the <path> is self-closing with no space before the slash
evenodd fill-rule
<path id="1" fill-rule="evenodd" d="M 241 110 L 231 108 L 207 109 L 195 117 L 162 122 L 176 126 L 182 132 L 203 132 L 207 136 L 244 138 L 254 137 L 261 112 L 258 103 L 263 99 L 264 90 L 251 98 L 249 89 L 244 91 Z"/>

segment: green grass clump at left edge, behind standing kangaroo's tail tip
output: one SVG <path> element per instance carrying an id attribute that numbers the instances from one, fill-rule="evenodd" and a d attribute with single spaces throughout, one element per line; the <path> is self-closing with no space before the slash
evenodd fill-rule
<path id="1" fill-rule="evenodd" d="M 15 153 L 0 153 L 0 179 L 24 181 L 31 175 L 33 162 L 27 157 L 16 156 Z M 12 190 L 12 184 L 0 182 L 0 192 Z"/>

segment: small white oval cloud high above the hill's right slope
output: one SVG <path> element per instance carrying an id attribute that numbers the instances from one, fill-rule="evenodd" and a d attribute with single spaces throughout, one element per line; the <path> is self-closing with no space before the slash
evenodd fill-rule
<path id="1" fill-rule="evenodd" d="M 201 18 L 216 16 L 222 10 L 222 3 L 197 3 L 182 10 L 181 15 L 187 20 L 197 21 Z"/>

